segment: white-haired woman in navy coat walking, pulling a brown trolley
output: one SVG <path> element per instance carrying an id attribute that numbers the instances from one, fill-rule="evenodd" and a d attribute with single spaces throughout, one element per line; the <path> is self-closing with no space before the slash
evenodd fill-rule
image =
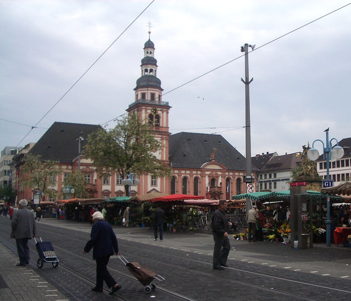
<path id="1" fill-rule="evenodd" d="M 93 248 L 93 259 L 96 260 L 96 284 L 92 290 L 102 292 L 105 281 L 108 287 L 112 287 L 110 294 L 114 294 L 121 288 L 121 285 L 107 270 L 107 263 L 113 253 L 119 255 L 117 238 L 110 224 L 103 221 L 101 212 L 95 212 L 92 220 L 94 225 L 91 228 L 90 240 L 83 249 L 83 253 L 88 253 Z"/>

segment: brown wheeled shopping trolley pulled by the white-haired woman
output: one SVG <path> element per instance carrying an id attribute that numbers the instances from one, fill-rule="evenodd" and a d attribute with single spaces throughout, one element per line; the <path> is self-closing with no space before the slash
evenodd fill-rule
<path id="1" fill-rule="evenodd" d="M 153 279 L 157 279 L 158 281 L 165 280 L 162 276 L 157 275 L 157 273 L 141 266 L 137 262 L 128 262 L 128 260 L 125 259 L 122 255 L 118 255 L 118 258 L 123 262 L 123 264 L 125 264 L 125 266 L 135 276 L 135 278 L 138 279 L 142 285 L 144 285 L 144 291 L 146 293 L 156 288 L 156 285 L 154 283 L 151 283 Z"/>

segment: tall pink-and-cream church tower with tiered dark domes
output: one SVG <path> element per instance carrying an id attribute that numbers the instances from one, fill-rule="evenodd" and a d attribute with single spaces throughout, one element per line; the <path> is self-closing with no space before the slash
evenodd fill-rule
<path id="1" fill-rule="evenodd" d="M 135 113 L 142 120 L 152 125 L 155 138 L 161 142 L 161 150 L 156 157 L 165 164 L 168 159 L 168 113 L 171 108 L 167 102 L 162 101 L 161 81 L 157 78 L 157 60 L 154 58 L 155 47 L 149 39 L 144 44 L 144 57 L 141 59 L 141 76 L 136 80 L 134 88 L 134 103 L 126 110 Z M 166 178 L 160 179 L 159 190 L 167 193 L 168 183 Z M 157 185 L 158 186 L 158 185 Z M 158 190 L 158 189 L 157 189 Z"/>

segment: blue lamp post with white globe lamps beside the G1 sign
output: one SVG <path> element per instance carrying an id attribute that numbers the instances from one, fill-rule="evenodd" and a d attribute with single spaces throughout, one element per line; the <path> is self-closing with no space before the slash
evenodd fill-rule
<path id="1" fill-rule="evenodd" d="M 317 149 L 314 148 L 314 142 L 316 141 L 320 141 L 323 145 L 323 160 L 324 160 L 324 154 L 326 157 L 326 179 L 325 180 L 331 180 L 330 176 L 329 176 L 329 161 L 334 161 L 336 159 L 340 159 L 342 158 L 344 151 L 343 148 L 341 146 L 339 146 L 338 141 L 335 138 L 331 138 L 329 141 L 329 128 L 327 128 L 325 131 L 325 147 L 324 147 L 324 143 L 322 140 L 314 140 L 312 143 L 312 148 L 310 148 L 307 152 L 307 157 L 308 159 L 315 161 L 319 158 L 319 152 Z M 335 140 L 336 141 L 336 146 L 332 147 L 331 146 L 331 141 Z M 331 182 L 331 181 L 330 181 Z M 332 186 L 332 184 L 330 185 Z M 330 198 L 329 198 L 329 194 L 326 194 L 326 221 L 325 221 L 325 225 L 326 225 L 326 245 L 329 247 L 330 246 L 330 235 L 331 235 L 331 231 L 330 231 Z"/>

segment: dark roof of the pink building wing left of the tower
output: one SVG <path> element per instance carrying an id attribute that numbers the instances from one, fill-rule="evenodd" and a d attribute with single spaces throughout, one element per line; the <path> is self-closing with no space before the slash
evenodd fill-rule
<path id="1" fill-rule="evenodd" d="M 80 136 L 84 138 L 81 141 L 81 153 L 83 153 L 88 135 L 99 128 L 99 125 L 55 122 L 29 153 L 41 155 L 42 160 L 72 162 L 78 157 L 77 138 Z"/>

